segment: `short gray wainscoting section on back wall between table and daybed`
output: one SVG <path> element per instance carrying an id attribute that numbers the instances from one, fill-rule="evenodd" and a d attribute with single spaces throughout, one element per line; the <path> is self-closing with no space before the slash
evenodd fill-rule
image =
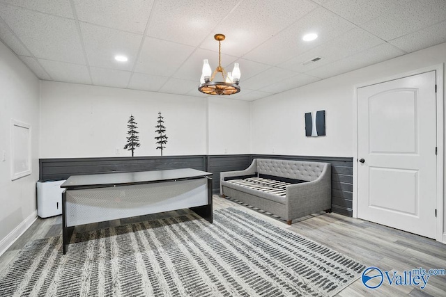
<path id="1" fill-rule="evenodd" d="M 208 168 L 213 172 L 213 193 L 220 194 L 220 172 L 243 170 L 252 163 L 250 154 L 219 154 L 208 156 Z"/>

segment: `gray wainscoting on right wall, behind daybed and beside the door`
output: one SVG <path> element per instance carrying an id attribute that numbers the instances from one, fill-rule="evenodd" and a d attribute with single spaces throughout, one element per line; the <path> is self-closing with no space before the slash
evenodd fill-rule
<path id="1" fill-rule="evenodd" d="M 353 158 L 338 156 L 283 156 L 253 154 L 252 158 L 328 162 L 332 164 L 332 211 L 353 216 Z"/>

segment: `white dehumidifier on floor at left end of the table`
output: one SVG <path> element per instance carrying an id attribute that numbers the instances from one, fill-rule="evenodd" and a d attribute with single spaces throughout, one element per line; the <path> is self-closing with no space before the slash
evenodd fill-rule
<path id="1" fill-rule="evenodd" d="M 62 192 L 64 188 L 61 188 L 61 184 L 65 181 L 66 179 L 37 182 L 37 215 L 40 218 L 62 214 Z"/>

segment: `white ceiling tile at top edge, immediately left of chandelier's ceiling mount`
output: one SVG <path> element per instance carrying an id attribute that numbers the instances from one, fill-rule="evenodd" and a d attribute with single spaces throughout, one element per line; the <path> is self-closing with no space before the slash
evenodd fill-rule
<path id="1" fill-rule="evenodd" d="M 157 1 L 147 35 L 196 47 L 238 2 L 239 0 Z"/>

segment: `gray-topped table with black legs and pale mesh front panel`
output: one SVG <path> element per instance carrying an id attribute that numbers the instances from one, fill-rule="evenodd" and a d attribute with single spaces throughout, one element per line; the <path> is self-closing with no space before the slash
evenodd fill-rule
<path id="1" fill-rule="evenodd" d="M 61 188 L 64 255 L 75 225 L 184 208 L 213 221 L 212 173 L 192 168 L 72 175 Z"/>

